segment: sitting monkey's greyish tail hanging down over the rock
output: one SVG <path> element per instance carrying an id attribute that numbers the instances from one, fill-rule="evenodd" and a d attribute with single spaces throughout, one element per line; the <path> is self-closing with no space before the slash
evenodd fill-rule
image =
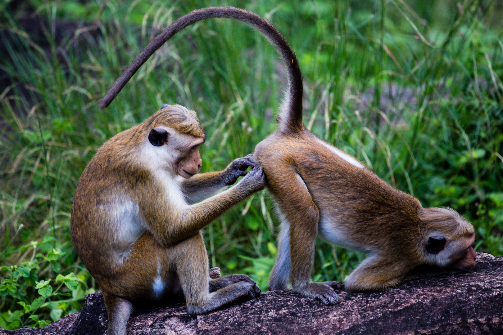
<path id="1" fill-rule="evenodd" d="M 103 292 L 105 306 L 108 314 L 108 335 L 126 335 L 127 320 L 133 310 L 133 304 L 124 298 L 120 298 Z"/>

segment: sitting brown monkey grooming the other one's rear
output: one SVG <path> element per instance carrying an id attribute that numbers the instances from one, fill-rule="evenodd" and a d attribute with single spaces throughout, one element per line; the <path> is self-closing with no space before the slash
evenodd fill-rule
<path id="1" fill-rule="evenodd" d="M 177 292 L 183 291 L 190 313 L 260 295 L 246 275 L 210 280 L 200 230 L 263 189 L 264 173 L 248 155 L 223 171 L 197 174 L 204 140 L 194 111 L 163 105 L 105 142 L 78 180 L 71 235 L 103 292 L 109 335 L 126 334 L 134 304 Z M 248 166 L 253 169 L 246 173 Z M 211 196 L 239 176 L 235 186 Z"/>

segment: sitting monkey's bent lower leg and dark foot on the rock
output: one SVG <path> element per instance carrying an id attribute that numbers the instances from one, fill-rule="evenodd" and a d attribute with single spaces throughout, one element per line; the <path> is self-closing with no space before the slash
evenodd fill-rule
<path id="1" fill-rule="evenodd" d="M 208 255 L 201 233 L 180 242 L 173 248 L 172 256 L 178 260 L 177 273 L 189 313 L 206 313 L 237 298 L 253 299 L 258 295 L 256 294 L 257 285 L 255 282 L 251 279 L 244 279 L 244 277 L 243 280 L 233 281 L 212 293 L 209 292 Z M 232 281 L 229 277 L 223 278 Z M 237 280 L 239 277 L 231 278 Z M 248 277 L 246 276 L 246 278 Z M 223 281 L 217 280 L 216 283 L 224 283 L 224 281 L 225 279 Z"/>

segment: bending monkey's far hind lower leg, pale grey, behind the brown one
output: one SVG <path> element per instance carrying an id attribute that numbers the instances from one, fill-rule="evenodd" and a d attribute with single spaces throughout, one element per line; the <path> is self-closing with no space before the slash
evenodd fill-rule
<path id="1" fill-rule="evenodd" d="M 290 223 L 283 219 L 278 237 L 276 262 L 269 276 L 269 291 L 284 290 L 290 280 Z"/>

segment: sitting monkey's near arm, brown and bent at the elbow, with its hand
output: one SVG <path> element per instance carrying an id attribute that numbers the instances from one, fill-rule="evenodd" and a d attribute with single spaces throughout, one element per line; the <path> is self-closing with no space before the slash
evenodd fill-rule
<path id="1" fill-rule="evenodd" d="M 152 199 L 145 194 L 139 199 L 139 207 L 148 231 L 158 243 L 168 247 L 197 234 L 230 207 L 264 186 L 264 171 L 256 167 L 237 185 L 196 204 L 180 208 L 166 203 L 163 197 Z"/>

